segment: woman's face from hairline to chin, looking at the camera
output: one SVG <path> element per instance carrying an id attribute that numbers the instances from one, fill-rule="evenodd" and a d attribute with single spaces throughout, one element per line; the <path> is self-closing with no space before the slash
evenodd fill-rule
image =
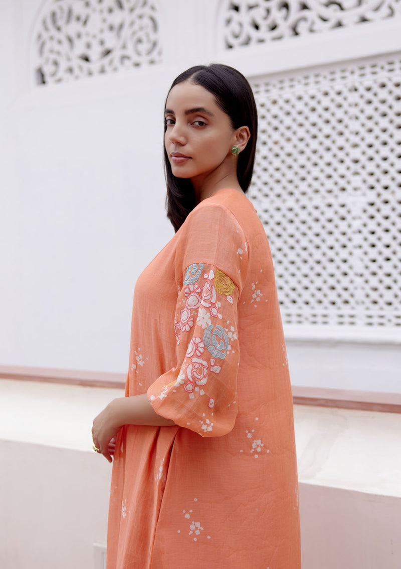
<path id="1" fill-rule="evenodd" d="M 227 162 L 235 167 L 230 160 L 234 129 L 207 89 L 190 80 L 174 86 L 166 101 L 165 119 L 164 143 L 174 176 L 195 182 L 227 170 Z"/>

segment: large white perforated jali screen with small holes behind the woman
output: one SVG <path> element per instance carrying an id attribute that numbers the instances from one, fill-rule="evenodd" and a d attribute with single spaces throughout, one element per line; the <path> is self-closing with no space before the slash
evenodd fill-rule
<path id="1" fill-rule="evenodd" d="M 283 321 L 400 326 L 400 55 L 252 86 Z"/>

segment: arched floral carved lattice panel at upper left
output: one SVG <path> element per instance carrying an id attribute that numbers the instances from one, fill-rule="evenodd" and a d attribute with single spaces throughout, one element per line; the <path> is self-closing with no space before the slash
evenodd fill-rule
<path id="1" fill-rule="evenodd" d="M 156 6 L 148 0 L 52 0 L 35 27 L 37 84 L 160 63 Z"/>

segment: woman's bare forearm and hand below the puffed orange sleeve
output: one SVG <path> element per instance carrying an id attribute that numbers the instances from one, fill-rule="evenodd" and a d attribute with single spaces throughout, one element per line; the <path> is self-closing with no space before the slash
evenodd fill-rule
<path id="1" fill-rule="evenodd" d="M 93 443 L 109 462 L 112 460 L 110 450 L 114 450 L 110 442 L 125 424 L 170 427 L 176 423 L 158 415 L 146 393 L 113 399 L 95 417 L 92 427 Z"/>

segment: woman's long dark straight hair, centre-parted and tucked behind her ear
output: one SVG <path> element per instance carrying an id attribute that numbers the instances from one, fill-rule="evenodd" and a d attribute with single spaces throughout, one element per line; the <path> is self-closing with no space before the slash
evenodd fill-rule
<path id="1" fill-rule="evenodd" d="M 246 192 L 252 178 L 257 138 L 256 104 L 247 79 L 242 73 L 228 65 L 219 63 L 196 65 L 174 79 L 169 93 L 175 85 L 189 79 L 191 83 L 201 85 L 215 96 L 216 104 L 228 115 L 234 130 L 240 126 L 249 127 L 250 139 L 240 153 L 237 163 L 238 182 Z M 190 179 L 177 178 L 173 175 L 165 147 L 164 166 L 167 184 L 167 217 L 177 232 L 196 205 L 195 191 Z"/>

